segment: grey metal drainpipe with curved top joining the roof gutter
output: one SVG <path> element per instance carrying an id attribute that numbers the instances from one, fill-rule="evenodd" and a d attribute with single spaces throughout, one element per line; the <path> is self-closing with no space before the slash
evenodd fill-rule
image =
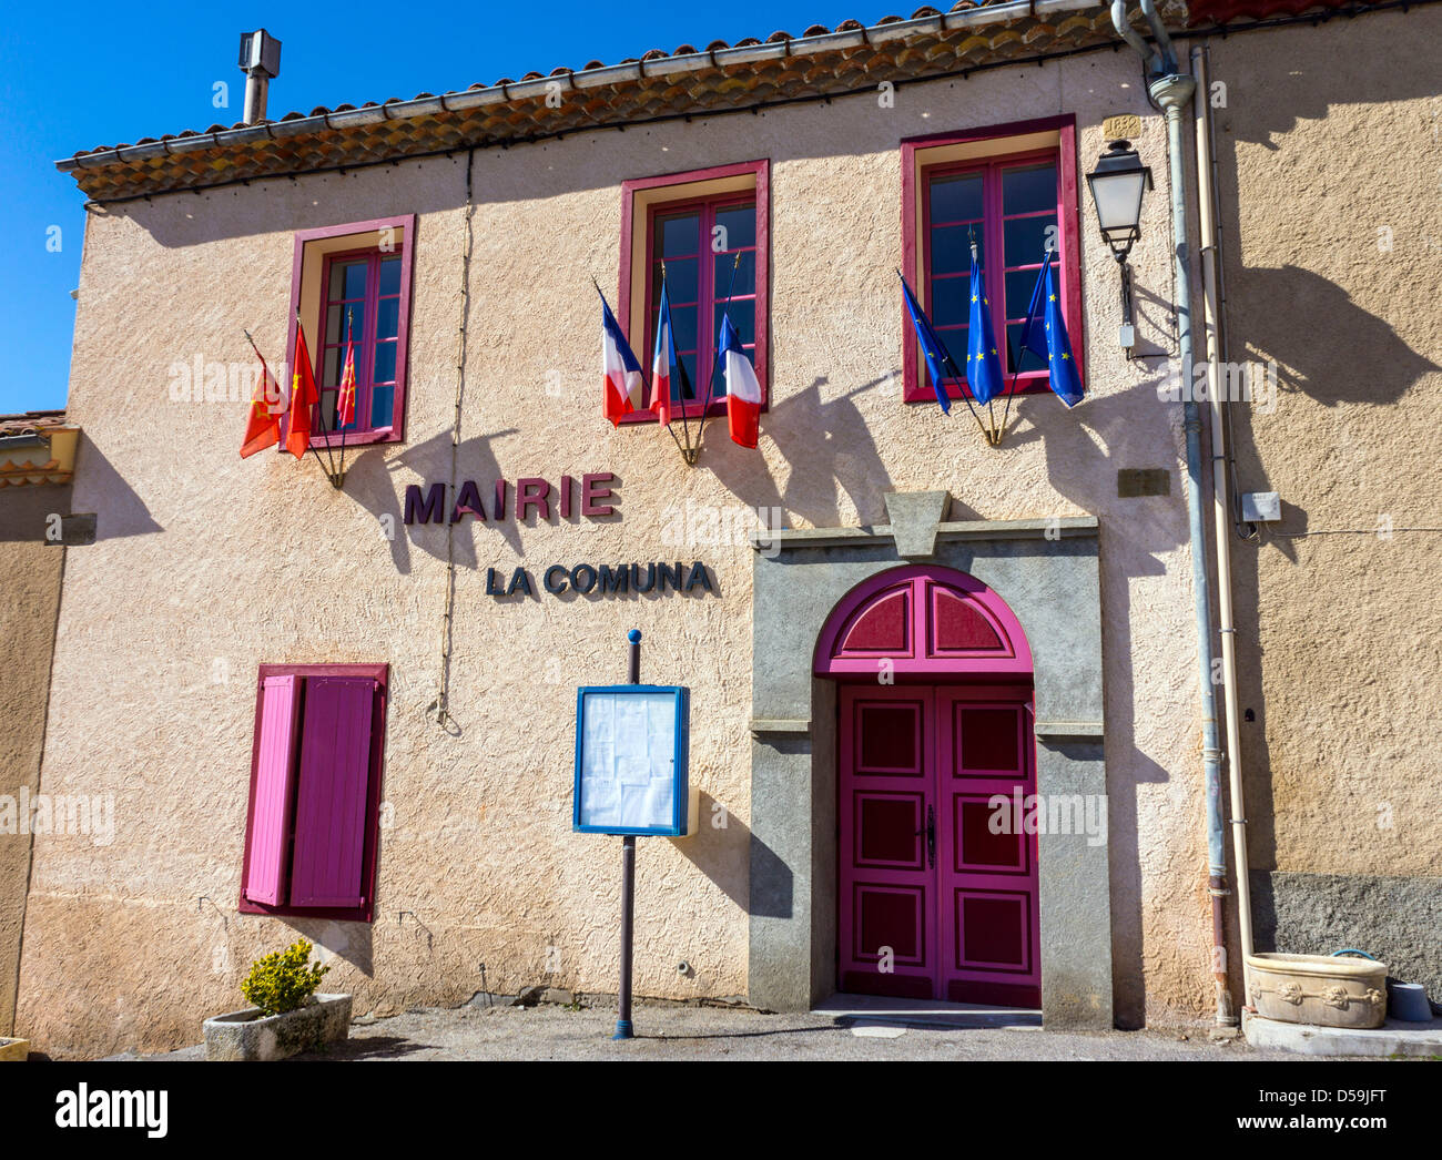
<path id="1" fill-rule="evenodd" d="M 1177 339 L 1182 375 L 1182 429 L 1187 435 L 1187 526 L 1191 539 L 1191 586 L 1197 618 L 1197 674 L 1201 696 L 1201 762 L 1207 794 L 1207 888 L 1211 895 L 1211 978 L 1216 1022 L 1237 1022 L 1227 986 L 1227 941 L 1223 898 L 1227 896 L 1227 856 L 1221 808 L 1221 746 L 1217 738 L 1217 690 L 1211 679 L 1211 585 L 1207 575 L 1207 525 L 1201 510 L 1201 408 L 1193 398 L 1191 261 L 1187 242 L 1187 161 L 1182 153 L 1182 117 L 1197 84 L 1180 72 L 1171 40 L 1156 10 L 1142 0 L 1159 52 L 1139 53 L 1152 68 L 1148 91 L 1167 117 L 1167 161 L 1172 202 L 1172 262 L 1177 294 Z M 1135 48 L 1135 30 L 1126 22 L 1125 3 L 1112 6 L 1119 36 Z"/>

